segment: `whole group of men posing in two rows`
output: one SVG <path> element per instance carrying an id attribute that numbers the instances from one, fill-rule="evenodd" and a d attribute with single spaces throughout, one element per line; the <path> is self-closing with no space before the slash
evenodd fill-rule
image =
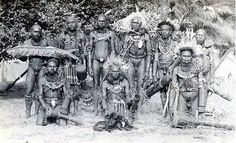
<path id="1" fill-rule="evenodd" d="M 37 125 L 47 125 L 51 119 L 66 125 L 70 107 L 74 106 L 76 112 L 83 94 L 93 98 L 96 114 L 115 114 L 129 125 L 144 101 L 151 100 L 157 92 L 166 111 L 164 117 L 172 117 L 176 110 L 194 116 L 204 113 L 214 64 L 210 51 L 213 43 L 203 29 L 191 39 L 195 46 L 180 47 L 180 41 L 173 38 L 175 27 L 170 22 L 159 23 L 154 32 L 158 36 L 150 37 L 141 18 L 135 16 L 127 23 L 132 30 L 121 39 L 122 48 L 117 52 L 116 33 L 108 28 L 106 16 L 98 15 L 96 22 L 96 28 L 87 35 L 71 16 L 66 30 L 57 38 L 57 47 L 70 51 L 79 60 L 29 57 L 27 118 L 34 100 Z M 43 39 L 38 24 L 32 26 L 31 38 L 23 44 L 51 46 Z M 202 52 L 197 53 L 195 48 Z M 124 66 L 128 68 L 124 70 Z M 92 86 L 88 76 L 93 79 Z"/>

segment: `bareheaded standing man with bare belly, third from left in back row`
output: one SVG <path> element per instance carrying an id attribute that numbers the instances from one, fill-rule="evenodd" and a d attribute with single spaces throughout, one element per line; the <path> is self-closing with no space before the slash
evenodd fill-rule
<path id="1" fill-rule="evenodd" d="M 95 87 L 101 84 L 101 78 L 105 74 L 104 62 L 114 55 L 114 33 L 107 29 L 106 16 L 100 14 L 97 18 L 97 28 L 90 33 L 89 69 L 90 75 L 94 77 Z M 102 77 L 101 77 L 102 76 Z"/>

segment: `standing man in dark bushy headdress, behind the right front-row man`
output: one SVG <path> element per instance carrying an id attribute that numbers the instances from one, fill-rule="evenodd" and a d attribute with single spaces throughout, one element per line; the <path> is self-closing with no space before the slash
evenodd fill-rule
<path id="1" fill-rule="evenodd" d="M 172 33 L 175 28 L 171 23 L 161 22 L 158 28 L 161 30 L 161 37 L 158 39 L 155 52 L 153 77 L 159 81 L 158 86 L 161 88 L 156 89 L 160 89 L 161 103 L 164 108 L 167 99 L 167 88 L 171 82 L 172 65 L 176 58 L 175 48 L 177 42 L 172 39 Z"/>

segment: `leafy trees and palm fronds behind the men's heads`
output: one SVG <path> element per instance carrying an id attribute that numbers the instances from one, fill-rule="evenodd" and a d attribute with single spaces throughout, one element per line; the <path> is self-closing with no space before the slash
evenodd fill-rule
<path id="1" fill-rule="evenodd" d="M 0 3 L 0 47 L 11 48 L 29 38 L 29 30 L 38 22 L 44 36 L 55 39 L 63 31 L 66 18 L 75 14 L 79 24 L 95 24 L 106 13 L 112 24 L 137 10 L 145 10 L 195 29 L 205 28 L 218 44 L 234 45 L 234 0 L 3 0 Z M 181 30 L 181 28 L 180 28 Z M 230 33 L 226 33 L 230 32 Z M 53 40 L 52 40 L 53 41 Z M 1 50 L 0 50 L 1 53 Z"/>

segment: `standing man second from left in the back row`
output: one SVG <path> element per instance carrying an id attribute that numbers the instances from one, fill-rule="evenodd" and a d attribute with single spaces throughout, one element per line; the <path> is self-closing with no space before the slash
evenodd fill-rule
<path id="1" fill-rule="evenodd" d="M 59 47 L 64 50 L 71 51 L 72 54 L 77 56 L 80 60 L 79 61 L 72 61 L 71 59 L 65 60 L 64 66 L 64 73 L 66 79 L 66 87 L 73 90 L 74 99 L 74 113 L 77 112 L 77 105 L 78 105 L 78 98 L 79 94 L 78 91 L 82 90 L 81 85 L 85 84 L 85 81 L 81 81 L 81 79 L 77 76 L 76 69 L 83 69 L 83 72 L 86 73 L 86 60 L 85 60 L 85 53 L 86 53 L 86 37 L 82 33 L 82 31 L 78 28 L 77 20 L 74 16 L 68 17 L 66 21 L 66 31 L 64 31 L 58 38 L 59 40 Z M 86 77 L 83 77 L 83 80 Z"/>

